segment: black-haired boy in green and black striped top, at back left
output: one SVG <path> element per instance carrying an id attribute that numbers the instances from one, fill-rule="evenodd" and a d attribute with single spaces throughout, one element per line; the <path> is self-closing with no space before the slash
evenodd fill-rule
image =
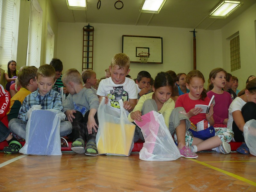
<path id="1" fill-rule="evenodd" d="M 64 87 L 62 81 L 61 81 L 61 73 L 63 70 L 63 65 L 62 65 L 62 61 L 60 59 L 57 58 L 53 58 L 50 62 L 50 65 L 55 69 L 55 78 L 56 78 L 56 82 L 54 83 L 54 85 L 57 85 L 58 88 L 60 89 L 60 87 L 63 87 L 63 92 L 67 93 L 66 88 Z"/>

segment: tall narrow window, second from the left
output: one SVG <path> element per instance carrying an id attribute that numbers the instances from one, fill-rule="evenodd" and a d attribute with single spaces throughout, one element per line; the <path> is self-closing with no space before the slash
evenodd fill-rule
<path id="1" fill-rule="evenodd" d="M 41 36 L 42 36 L 42 9 L 37 0 L 31 1 L 30 20 L 28 31 L 27 66 L 40 66 Z"/>

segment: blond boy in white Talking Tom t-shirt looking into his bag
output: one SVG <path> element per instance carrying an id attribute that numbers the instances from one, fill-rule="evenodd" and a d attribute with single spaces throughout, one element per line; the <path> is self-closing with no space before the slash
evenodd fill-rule
<path id="1" fill-rule="evenodd" d="M 120 113 L 118 100 L 122 99 L 127 116 L 135 107 L 138 97 L 135 82 L 125 77 L 130 71 L 129 67 L 129 57 L 124 53 L 116 54 L 109 66 L 111 78 L 102 79 L 97 90 L 99 98 L 106 97 L 105 104 L 108 103 L 111 109 L 118 113 Z"/>

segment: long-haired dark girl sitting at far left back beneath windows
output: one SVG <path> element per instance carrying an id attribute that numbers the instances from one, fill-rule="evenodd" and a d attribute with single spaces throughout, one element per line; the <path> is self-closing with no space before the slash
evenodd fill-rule
<path id="1" fill-rule="evenodd" d="M 8 62 L 7 68 L 8 68 L 8 70 L 4 71 L 4 77 L 6 79 L 5 89 L 7 91 L 10 91 L 11 82 L 13 81 L 13 83 L 14 83 L 19 71 L 16 70 L 16 61 L 14 61 L 14 60 L 11 60 Z"/>

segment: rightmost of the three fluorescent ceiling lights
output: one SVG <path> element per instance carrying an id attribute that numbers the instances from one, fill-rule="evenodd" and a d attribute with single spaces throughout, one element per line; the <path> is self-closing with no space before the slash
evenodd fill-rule
<path id="1" fill-rule="evenodd" d="M 241 7 L 243 3 L 240 1 L 225 1 L 222 0 L 217 7 L 211 11 L 209 17 L 211 18 L 227 18 L 231 13 L 236 11 L 239 7 Z"/>

